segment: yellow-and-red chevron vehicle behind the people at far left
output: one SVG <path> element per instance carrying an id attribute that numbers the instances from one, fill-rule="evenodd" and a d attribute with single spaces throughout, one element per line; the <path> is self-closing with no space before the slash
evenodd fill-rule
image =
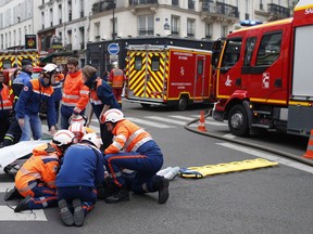
<path id="1" fill-rule="evenodd" d="M 11 67 L 22 67 L 32 64 L 39 65 L 39 54 L 37 50 L 4 50 L 0 51 L 0 69 Z"/>

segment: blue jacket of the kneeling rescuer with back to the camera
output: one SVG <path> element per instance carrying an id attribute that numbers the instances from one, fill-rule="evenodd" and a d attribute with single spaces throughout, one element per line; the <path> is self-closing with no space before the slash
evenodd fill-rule
<path id="1" fill-rule="evenodd" d="M 104 180 L 103 156 L 100 151 L 87 144 L 70 146 L 57 176 L 57 187 L 95 187 Z"/>

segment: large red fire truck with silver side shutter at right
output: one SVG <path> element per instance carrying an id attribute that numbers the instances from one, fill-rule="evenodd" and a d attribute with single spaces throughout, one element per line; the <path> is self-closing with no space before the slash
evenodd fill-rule
<path id="1" fill-rule="evenodd" d="M 216 69 L 213 118 L 233 134 L 274 129 L 310 135 L 313 129 L 313 0 L 292 18 L 230 32 Z"/>

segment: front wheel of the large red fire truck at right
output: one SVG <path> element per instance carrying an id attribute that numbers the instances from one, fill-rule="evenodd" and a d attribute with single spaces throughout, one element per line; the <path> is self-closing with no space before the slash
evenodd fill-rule
<path id="1" fill-rule="evenodd" d="M 228 127 L 234 135 L 247 136 L 249 134 L 248 115 L 242 105 L 235 105 L 230 108 Z"/>

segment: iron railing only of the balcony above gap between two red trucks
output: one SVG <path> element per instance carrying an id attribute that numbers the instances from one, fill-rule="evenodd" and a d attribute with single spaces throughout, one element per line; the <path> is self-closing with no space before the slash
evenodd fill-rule
<path id="1" fill-rule="evenodd" d="M 238 8 L 230 4 L 225 4 L 223 2 L 216 1 L 213 2 L 211 0 L 203 0 L 202 2 L 202 11 L 213 14 L 222 14 L 227 15 L 231 17 L 239 17 L 239 11 Z"/>

